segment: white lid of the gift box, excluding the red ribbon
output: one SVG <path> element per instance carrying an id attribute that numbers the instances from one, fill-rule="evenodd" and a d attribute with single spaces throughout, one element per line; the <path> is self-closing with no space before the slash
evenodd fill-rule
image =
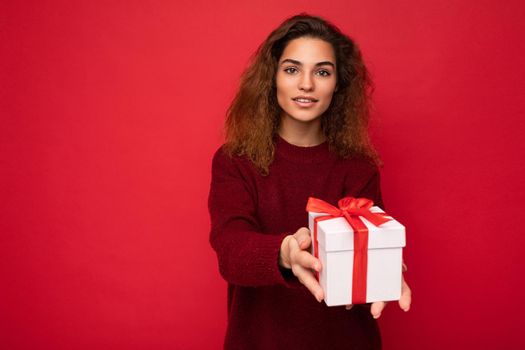
<path id="1" fill-rule="evenodd" d="M 373 213 L 384 213 L 374 206 L 370 208 Z M 309 212 L 310 228 L 313 230 L 313 221 L 317 216 L 325 213 Z M 405 227 L 391 216 L 392 220 L 380 226 L 375 226 L 367 219 L 360 217 L 368 228 L 368 249 L 400 248 L 405 246 Z M 326 252 L 354 250 L 354 230 L 344 217 L 319 221 L 317 223 L 317 240 Z M 313 236 L 313 233 L 312 233 Z"/>

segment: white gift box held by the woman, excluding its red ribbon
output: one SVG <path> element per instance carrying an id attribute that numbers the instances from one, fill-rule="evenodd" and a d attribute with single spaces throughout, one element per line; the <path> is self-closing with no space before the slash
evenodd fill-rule
<path id="1" fill-rule="evenodd" d="M 377 206 L 370 208 L 370 211 L 384 213 Z M 325 215 L 328 214 L 308 213 L 312 254 L 314 218 Z M 393 218 L 380 226 L 373 225 L 362 216 L 359 218 L 368 228 L 366 302 L 399 300 L 405 227 Z M 317 225 L 318 253 L 322 264 L 319 282 L 325 303 L 328 306 L 353 304 L 354 230 L 344 217 L 320 220 Z"/>

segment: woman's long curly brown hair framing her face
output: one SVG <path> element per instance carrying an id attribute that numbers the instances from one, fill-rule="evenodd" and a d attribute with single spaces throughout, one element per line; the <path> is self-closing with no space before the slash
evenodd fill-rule
<path id="1" fill-rule="evenodd" d="M 330 151 L 342 158 L 363 157 L 380 165 L 368 136 L 373 86 L 361 52 L 335 25 L 306 13 L 288 18 L 277 27 L 259 46 L 242 74 L 239 90 L 227 112 L 226 153 L 246 156 L 261 174 L 269 173 L 281 112 L 275 85 L 278 62 L 288 42 L 301 37 L 324 40 L 335 52 L 338 87 L 321 117 Z"/>

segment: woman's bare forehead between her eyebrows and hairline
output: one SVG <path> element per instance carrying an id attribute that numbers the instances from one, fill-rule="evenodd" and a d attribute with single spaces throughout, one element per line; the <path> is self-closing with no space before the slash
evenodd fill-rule
<path id="1" fill-rule="evenodd" d="M 279 59 L 294 59 L 304 64 L 330 61 L 335 64 L 335 53 L 332 45 L 318 38 L 297 38 L 290 40 Z"/>

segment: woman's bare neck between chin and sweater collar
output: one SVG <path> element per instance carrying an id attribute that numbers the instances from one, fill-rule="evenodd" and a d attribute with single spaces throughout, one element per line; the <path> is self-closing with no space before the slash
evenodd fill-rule
<path id="1" fill-rule="evenodd" d="M 282 117 L 278 133 L 286 142 L 301 147 L 317 146 L 326 140 L 320 118 L 305 123 Z"/>

